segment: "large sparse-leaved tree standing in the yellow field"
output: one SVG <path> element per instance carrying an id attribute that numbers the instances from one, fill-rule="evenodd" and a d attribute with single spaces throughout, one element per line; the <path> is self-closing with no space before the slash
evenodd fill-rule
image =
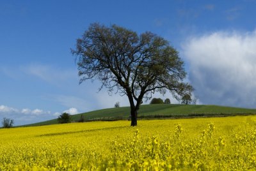
<path id="1" fill-rule="evenodd" d="M 91 24 L 77 39 L 76 56 L 80 84 L 98 79 L 109 93 L 126 95 L 131 107 L 131 126 L 137 125 L 137 116 L 143 98 L 149 100 L 156 91 L 166 89 L 179 99 L 192 91 L 182 82 L 186 77 L 184 63 L 169 42 L 156 34 L 138 35 L 124 27 Z"/>

